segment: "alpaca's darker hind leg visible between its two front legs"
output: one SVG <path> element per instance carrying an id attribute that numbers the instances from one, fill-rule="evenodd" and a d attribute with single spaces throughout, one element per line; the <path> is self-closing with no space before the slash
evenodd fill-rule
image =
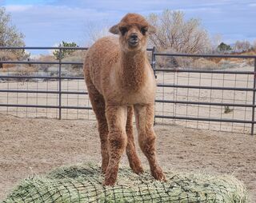
<path id="1" fill-rule="evenodd" d="M 134 173 L 143 173 L 142 162 L 138 158 L 138 154 L 134 144 L 134 130 L 133 130 L 133 106 L 127 107 L 127 121 L 126 121 L 126 134 L 127 134 L 127 145 L 126 155 L 129 160 L 130 168 Z"/>

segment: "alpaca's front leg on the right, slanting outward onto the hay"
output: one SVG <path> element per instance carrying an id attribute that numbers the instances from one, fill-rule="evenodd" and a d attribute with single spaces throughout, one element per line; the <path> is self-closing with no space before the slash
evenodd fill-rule
<path id="1" fill-rule="evenodd" d="M 146 155 L 150 163 L 152 176 L 159 180 L 165 181 L 166 177 L 158 165 L 155 150 L 154 134 L 154 105 L 134 105 L 136 125 L 138 129 L 138 142 L 142 152 Z"/>

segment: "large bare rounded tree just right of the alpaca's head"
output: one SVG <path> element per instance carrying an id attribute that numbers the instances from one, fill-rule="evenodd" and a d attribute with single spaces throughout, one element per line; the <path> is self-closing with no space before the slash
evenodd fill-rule
<path id="1" fill-rule="evenodd" d="M 174 50 L 178 53 L 206 53 L 210 39 L 198 19 L 184 19 L 181 11 L 164 10 L 162 14 L 150 14 L 148 21 L 157 28 L 150 35 L 150 44 L 158 50 Z"/>

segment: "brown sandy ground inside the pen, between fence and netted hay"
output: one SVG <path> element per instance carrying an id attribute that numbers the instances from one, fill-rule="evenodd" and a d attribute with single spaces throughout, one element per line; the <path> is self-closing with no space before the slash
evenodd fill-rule
<path id="1" fill-rule="evenodd" d="M 158 159 L 165 169 L 228 173 L 242 180 L 256 199 L 256 137 L 155 125 Z M 61 165 L 100 161 L 96 121 L 30 119 L 0 114 L 0 199 L 32 173 Z M 143 165 L 148 164 L 138 150 Z M 126 156 L 122 165 L 127 165 Z M 252 201 L 254 200 L 254 201 Z"/>

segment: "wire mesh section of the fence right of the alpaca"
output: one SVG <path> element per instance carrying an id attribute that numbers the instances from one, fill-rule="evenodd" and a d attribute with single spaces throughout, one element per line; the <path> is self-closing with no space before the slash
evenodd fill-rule
<path id="1" fill-rule="evenodd" d="M 246 69 L 251 71 L 253 67 Z M 254 71 L 238 74 L 235 70 L 222 73 L 177 70 L 159 71 L 157 75 L 158 84 L 162 85 L 158 87 L 156 122 L 251 133 Z"/>

